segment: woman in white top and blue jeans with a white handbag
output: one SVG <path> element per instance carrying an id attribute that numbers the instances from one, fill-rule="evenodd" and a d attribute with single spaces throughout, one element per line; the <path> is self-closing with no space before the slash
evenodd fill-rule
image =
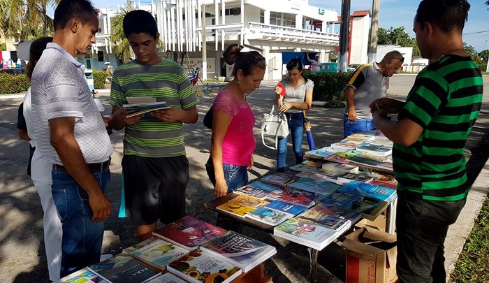
<path id="1" fill-rule="evenodd" d="M 286 68 L 289 76 L 280 81 L 285 88 L 285 94 L 283 96 L 280 94 L 282 87 L 275 87 L 275 103 L 287 117 L 295 164 L 300 164 L 304 159 L 302 157 L 302 138 L 304 137 L 304 115 L 302 111 L 311 109 L 314 82 L 302 76 L 304 66 L 300 59 L 291 59 L 287 62 Z M 289 136 L 279 139 L 277 172 L 284 172 L 285 170 Z"/>

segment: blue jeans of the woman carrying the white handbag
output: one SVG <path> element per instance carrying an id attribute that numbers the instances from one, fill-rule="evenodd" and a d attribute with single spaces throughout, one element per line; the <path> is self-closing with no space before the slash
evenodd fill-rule
<path id="1" fill-rule="evenodd" d="M 292 150 L 295 155 L 295 162 L 302 163 L 302 138 L 304 137 L 304 115 L 300 113 L 285 113 L 289 124 L 289 136 L 292 136 Z M 287 143 L 289 136 L 279 138 L 279 148 L 277 150 L 277 168 L 285 167 L 287 156 Z"/>

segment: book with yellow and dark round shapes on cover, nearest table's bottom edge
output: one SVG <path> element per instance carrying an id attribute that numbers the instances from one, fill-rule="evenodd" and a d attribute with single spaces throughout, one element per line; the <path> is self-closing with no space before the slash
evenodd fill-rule
<path id="1" fill-rule="evenodd" d="M 181 259 L 168 264 L 168 271 L 194 283 L 228 283 L 242 273 L 241 268 L 201 252 L 200 249 L 194 249 Z"/>

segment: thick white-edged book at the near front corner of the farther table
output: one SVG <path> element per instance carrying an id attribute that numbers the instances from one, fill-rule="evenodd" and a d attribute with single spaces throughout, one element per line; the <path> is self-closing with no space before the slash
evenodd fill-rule
<path id="1" fill-rule="evenodd" d="M 335 230 L 291 218 L 275 226 L 273 234 L 300 245 L 321 250 L 337 238 Z"/>

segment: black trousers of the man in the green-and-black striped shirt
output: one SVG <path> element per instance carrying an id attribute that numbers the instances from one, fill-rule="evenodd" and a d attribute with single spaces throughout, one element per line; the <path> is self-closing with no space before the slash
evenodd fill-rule
<path id="1" fill-rule="evenodd" d="M 400 282 L 445 283 L 444 242 L 448 226 L 465 205 L 426 201 L 400 191 L 397 201 L 397 276 Z"/>

